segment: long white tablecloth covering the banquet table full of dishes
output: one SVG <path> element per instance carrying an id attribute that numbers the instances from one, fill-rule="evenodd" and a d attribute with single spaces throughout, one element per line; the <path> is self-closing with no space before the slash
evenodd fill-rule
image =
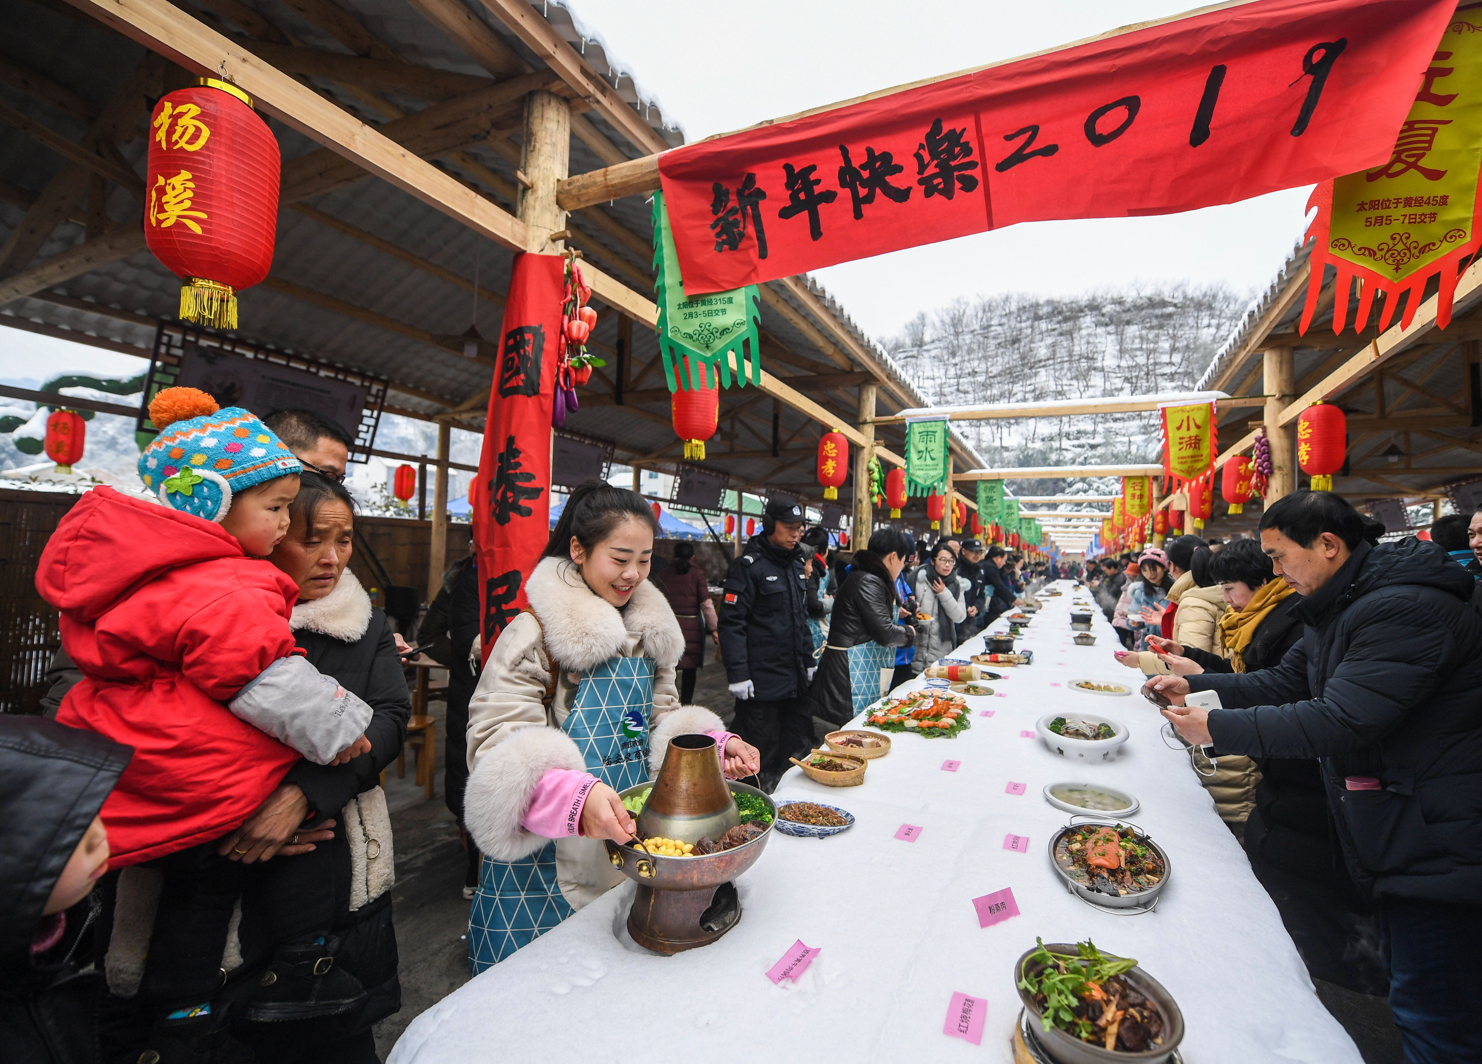
<path id="1" fill-rule="evenodd" d="M 1137 957 L 1184 1012 L 1189 1064 L 1359 1064 L 1187 754 L 1160 738 L 1156 710 L 1137 694 L 1067 688 L 1097 679 L 1135 692 L 1140 676 L 1112 658 L 1119 643 L 1098 609 L 1097 645 L 1071 642 L 1073 584 L 1054 587 L 1066 594 L 1043 599 L 1020 643 L 1034 664 L 1002 670 L 1006 679 L 990 682 L 997 695 L 969 699 L 968 732 L 895 735 L 854 788 L 823 787 L 796 769 L 784 777 L 775 797 L 827 802 L 858 819 L 827 840 L 774 831 L 737 883 L 741 922 L 719 942 L 673 957 L 640 948 L 624 929 L 633 898 L 624 883 L 418 1017 L 388 1064 L 1012 1061 L 1012 968 L 1036 935 L 1089 937 Z M 978 637 L 954 656 L 981 649 Z M 977 716 L 986 708 L 994 716 Z M 1052 710 L 1112 716 L 1131 738 L 1114 763 L 1070 763 L 1020 735 Z M 960 768 L 943 771 L 947 759 Z M 1069 815 L 1042 788 L 1063 779 L 1104 781 L 1141 800 L 1131 819 L 1172 864 L 1156 911 L 1113 916 L 1061 886 L 1046 846 Z M 1026 793 L 1008 794 L 1011 781 Z M 903 824 L 922 827 L 920 837 L 897 840 Z M 1003 849 L 1009 833 L 1029 836 L 1029 851 Z M 980 928 L 972 900 L 1002 888 L 1012 888 L 1021 914 Z M 774 985 L 765 972 L 796 940 L 821 953 L 796 984 Z M 943 1034 L 954 991 L 988 1002 L 981 1046 Z"/>

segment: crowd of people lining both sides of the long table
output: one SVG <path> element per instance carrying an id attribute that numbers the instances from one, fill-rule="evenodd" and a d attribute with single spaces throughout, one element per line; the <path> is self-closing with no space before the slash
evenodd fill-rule
<path id="1" fill-rule="evenodd" d="M 96 488 L 64 517 L 37 572 L 56 683 L 43 716 L 0 719 L 6 1058 L 369 1064 L 400 1008 L 378 782 L 413 651 L 347 568 L 351 442 L 182 388 L 150 413 L 154 501 Z M 1074 578 L 1313 977 L 1387 990 L 1406 1060 L 1478 1060 L 1455 985 L 1482 938 L 1482 511 L 1429 542 L 1381 533 L 1298 492 L 1258 539 L 1082 569 L 897 528 L 842 551 L 772 499 L 717 608 L 692 544 L 655 568 L 648 502 L 588 482 L 492 646 L 473 554 L 418 625 L 449 671 L 470 968 L 619 882 L 619 791 L 670 739 L 771 790 L 825 731 Z M 707 642 L 729 723 L 692 704 Z"/>

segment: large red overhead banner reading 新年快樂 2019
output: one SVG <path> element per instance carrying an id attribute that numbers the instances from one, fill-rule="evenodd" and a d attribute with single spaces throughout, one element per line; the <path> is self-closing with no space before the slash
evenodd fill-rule
<path id="1" fill-rule="evenodd" d="M 659 156 L 689 295 L 1383 164 L 1455 0 L 1220 6 Z"/>

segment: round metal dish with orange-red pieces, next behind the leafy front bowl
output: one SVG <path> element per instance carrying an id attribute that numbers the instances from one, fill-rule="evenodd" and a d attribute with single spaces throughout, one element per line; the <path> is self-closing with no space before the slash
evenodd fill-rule
<path id="1" fill-rule="evenodd" d="M 1150 913 L 1171 874 L 1162 846 L 1110 817 L 1071 817 L 1051 836 L 1049 859 L 1066 889 L 1098 908 Z"/>

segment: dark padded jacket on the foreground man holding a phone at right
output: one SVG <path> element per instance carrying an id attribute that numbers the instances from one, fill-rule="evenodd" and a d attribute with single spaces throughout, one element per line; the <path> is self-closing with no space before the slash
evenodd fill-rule
<path id="1" fill-rule="evenodd" d="M 1190 676 L 1217 691 L 1215 745 L 1251 757 L 1320 757 L 1359 889 L 1482 898 L 1482 616 L 1472 576 L 1414 538 L 1360 542 L 1295 608 L 1301 642 L 1260 673 Z M 1349 790 L 1374 777 L 1378 790 Z"/>

